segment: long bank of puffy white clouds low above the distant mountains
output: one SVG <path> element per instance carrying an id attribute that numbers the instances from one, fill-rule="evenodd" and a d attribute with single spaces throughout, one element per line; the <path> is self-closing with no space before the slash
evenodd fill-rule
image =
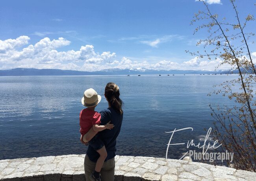
<path id="1" fill-rule="evenodd" d="M 11 68 L 58 68 L 63 70 L 97 71 L 108 68 L 156 69 L 156 70 L 214 70 L 221 59 L 204 60 L 194 57 L 189 61 L 177 63 L 161 57 L 122 57 L 115 52 L 97 53 L 94 46 L 86 44 L 79 50 L 58 51 L 69 46 L 70 41 L 62 37 L 49 39 L 45 37 L 35 44 L 28 44 L 28 36 L 17 39 L 0 40 L 0 69 Z M 25 47 L 24 47 L 25 46 Z M 254 59 L 256 52 L 252 53 Z M 153 63 L 154 62 L 154 63 Z M 222 66 L 222 69 L 231 68 Z"/>

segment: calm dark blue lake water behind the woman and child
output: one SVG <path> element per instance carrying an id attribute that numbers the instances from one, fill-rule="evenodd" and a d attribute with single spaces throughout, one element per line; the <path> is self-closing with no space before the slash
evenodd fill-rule
<path id="1" fill-rule="evenodd" d="M 176 76 L 22 76 L 0 77 L 0 159 L 85 154 L 80 143 L 79 113 L 85 89 L 103 96 L 106 83 L 119 85 L 124 120 L 117 139 L 118 155 L 165 157 L 174 142 L 196 142 L 213 126 L 209 103 L 229 105 L 221 95 L 207 96 L 212 85 L 237 75 Z M 96 107 L 108 107 L 104 96 Z M 170 146 L 178 159 L 186 146 Z"/>

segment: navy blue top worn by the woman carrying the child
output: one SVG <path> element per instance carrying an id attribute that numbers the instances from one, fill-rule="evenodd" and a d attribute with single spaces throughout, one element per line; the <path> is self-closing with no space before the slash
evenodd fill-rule
<path id="1" fill-rule="evenodd" d="M 104 109 L 100 111 L 100 125 L 107 124 L 111 121 L 111 124 L 114 124 L 113 129 L 105 129 L 103 131 L 98 132 L 99 138 L 104 142 L 106 147 L 108 156 L 105 161 L 115 157 L 115 151 L 117 148 L 115 147 L 117 143 L 117 136 L 119 135 L 123 114 L 119 115 L 112 107 L 108 109 Z M 90 145 L 88 146 L 86 155 L 88 155 L 89 159 L 93 162 L 96 162 L 100 155 L 97 151 L 95 151 Z"/>

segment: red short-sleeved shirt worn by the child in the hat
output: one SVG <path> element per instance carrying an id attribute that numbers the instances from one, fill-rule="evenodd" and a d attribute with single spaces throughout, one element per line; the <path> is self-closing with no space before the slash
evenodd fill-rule
<path id="1" fill-rule="evenodd" d="M 85 135 L 93 125 L 100 124 L 100 117 L 100 113 L 96 111 L 87 108 L 83 109 L 79 115 L 81 135 Z"/>

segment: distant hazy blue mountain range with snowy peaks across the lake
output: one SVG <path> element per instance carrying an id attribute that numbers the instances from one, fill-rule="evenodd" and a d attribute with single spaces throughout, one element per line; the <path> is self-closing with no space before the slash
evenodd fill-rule
<path id="1" fill-rule="evenodd" d="M 152 70 L 111 68 L 95 72 L 60 69 L 13 68 L 0 70 L 0 76 L 77 76 L 77 75 L 154 75 L 154 74 L 228 74 L 231 70 Z M 237 73 L 234 70 L 233 73 Z"/>

